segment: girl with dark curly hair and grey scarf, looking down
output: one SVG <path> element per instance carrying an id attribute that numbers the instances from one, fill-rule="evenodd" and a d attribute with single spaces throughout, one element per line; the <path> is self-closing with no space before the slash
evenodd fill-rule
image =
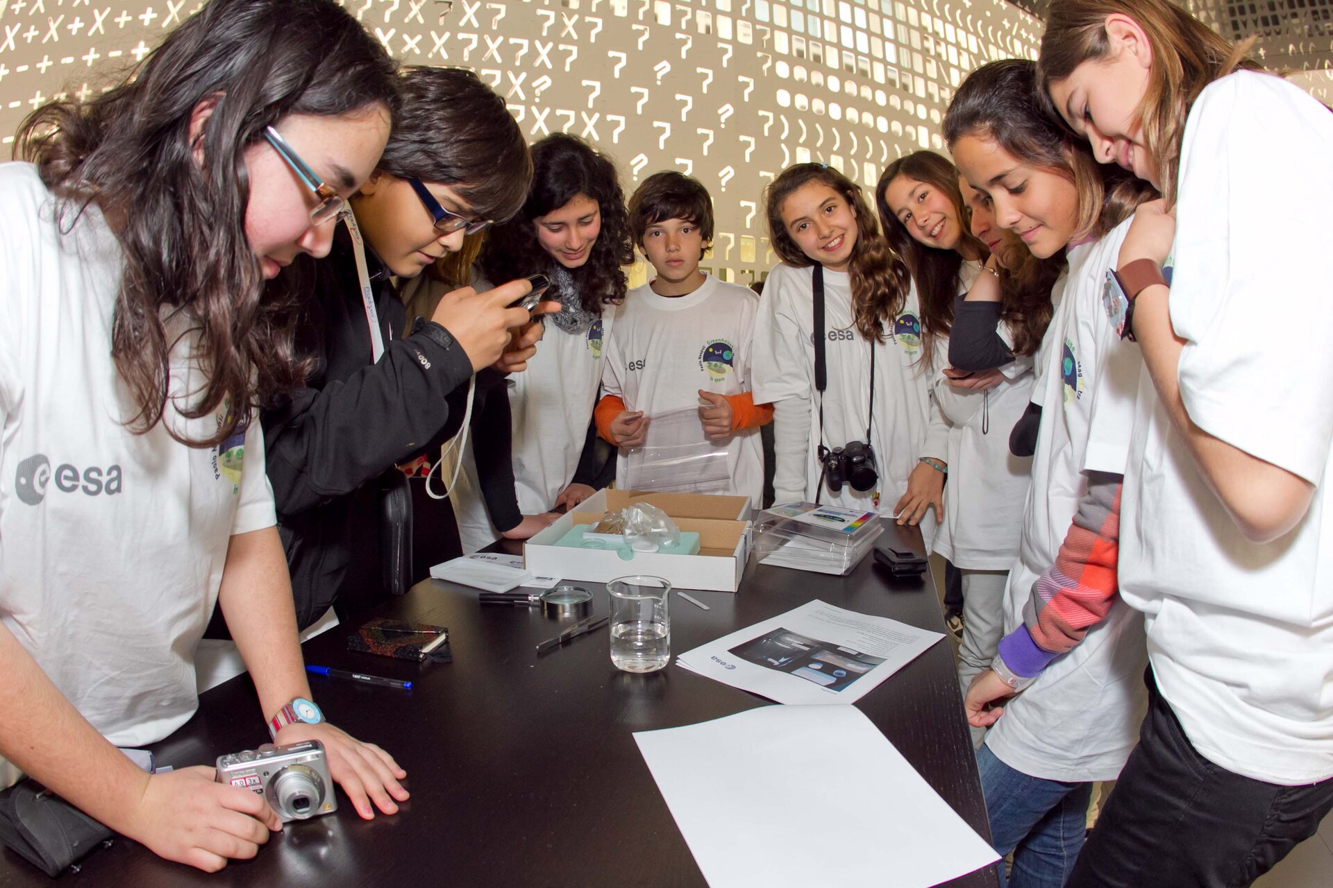
<path id="1" fill-rule="evenodd" d="M 625 196 L 609 157 L 556 133 L 532 145 L 532 165 L 523 209 L 488 233 L 480 260 L 485 281 L 545 274 L 548 298 L 560 302 L 527 371 L 511 377 L 511 459 L 523 515 L 575 506 L 609 481 L 609 446 L 597 438 L 592 413 L 612 326 L 605 306 L 625 298 L 624 268 L 635 261 Z M 500 535 L 476 486 L 484 482 L 477 469 L 475 451 L 465 453 L 455 509 L 467 553 Z"/>

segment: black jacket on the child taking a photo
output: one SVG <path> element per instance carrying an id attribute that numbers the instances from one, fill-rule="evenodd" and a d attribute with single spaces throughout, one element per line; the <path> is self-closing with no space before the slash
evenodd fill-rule
<path id="1" fill-rule="evenodd" d="M 351 238 L 340 225 L 329 256 L 313 264 L 315 293 L 297 332 L 297 350 L 315 366 L 303 389 L 261 413 L 268 477 L 287 550 L 301 627 L 339 600 L 340 611 L 384 594 L 380 490 L 399 463 L 453 437 L 472 363 L 448 330 L 417 322 L 404 329 L 403 304 L 383 262 L 367 250 L 384 355 L 372 363 Z M 477 375 L 473 425 L 487 426 L 479 450 L 509 449 L 504 377 Z M 500 397 L 489 398 L 495 390 Z M 383 479 L 383 481 L 381 481 Z M 508 527 L 519 523 L 513 475 L 496 478 L 488 506 Z M 507 495 L 505 495 L 507 494 Z"/>

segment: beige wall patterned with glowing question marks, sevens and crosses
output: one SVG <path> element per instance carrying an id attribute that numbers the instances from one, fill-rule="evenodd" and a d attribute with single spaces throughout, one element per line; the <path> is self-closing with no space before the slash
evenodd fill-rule
<path id="1" fill-rule="evenodd" d="M 52 96 L 91 96 L 196 0 L 0 0 L 0 132 Z M 479 72 L 529 140 L 572 132 L 616 158 L 627 194 L 678 169 L 713 196 L 705 266 L 749 282 L 774 262 L 764 186 L 798 161 L 872 186 L 941 150 L 972 69 L 1036 57 L 1041 23 L 1005 0 L 345 0 L 404 64 Z M 636 274 L 636 278 L 639 276 Z"/>

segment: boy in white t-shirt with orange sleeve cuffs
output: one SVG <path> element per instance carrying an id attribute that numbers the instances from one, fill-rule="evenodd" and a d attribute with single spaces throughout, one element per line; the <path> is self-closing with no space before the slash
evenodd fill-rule
<path id="1" fill-rule="evenodd" d="M 700 270 L 713 238 L 713 202 L 697 180 L 649 176 L 629 200 L 629 224 L 657 274 L 629 293 L 607 346 L 596 421 L 620 447 L 616 485 L 741 494 L 760 507 L 758 427 L 773 407 L 754 405 L 749 391 L 758 300 Z M 697 410 L 697 429 L 682 410 Z M 663 477 L 645 462 L 645 443 L 694 457 L 692 469 Z"/>

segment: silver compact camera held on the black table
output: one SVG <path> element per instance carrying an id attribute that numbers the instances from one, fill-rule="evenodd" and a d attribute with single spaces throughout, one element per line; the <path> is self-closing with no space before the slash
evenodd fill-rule
<path id="1" fill-rule="evenodd" d="M 217 758 L 217 783 L 264 796 L 283 823 L 337 811 L 324 744 L 319 740 L 232 752 Z"/>

